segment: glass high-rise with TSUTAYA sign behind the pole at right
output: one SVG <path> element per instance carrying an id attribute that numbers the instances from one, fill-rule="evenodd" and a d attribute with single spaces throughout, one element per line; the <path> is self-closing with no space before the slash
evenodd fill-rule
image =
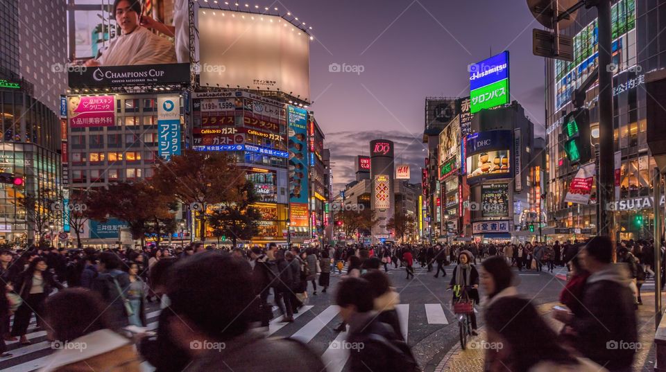
<path id="1" fill-rule="evenodd" d="M 577 166 L 565 156 L 561 125 L 574 109 L 572 91 L 595 68 L 613 71 L 613 137 L 615 146 L 615 221 L 621 239 L 651 238 L 652 177 L 656 167 L 647 147 L 645 73 L 666 67 L 666 35 L 658 27 L 666 22 L 663 3 L 649 0 L 617 0 L 612 7 L 613 66 L 598 66 L 597 10 L 580 9 L 572 26 L 561 30 L 574 39 L 574 60 L 546 62 L 547 193 L 545 206 L 553 240 L 584 238 L 597 231 L 597 188 L 592 204 L 565 202 Z M 599 87 L 586 92 L 590 109 L 592 144 L 598 136 Z M 666 103 L 663 103 L 666 105 Z M 595 161 L 595 151 L 592 151 Z M 598 165 L 598 163 L 597 163 Z M 598 166 L 596 167 L 598 169 Z M 619 176 L 619 177 L 617 177 Z M 640 223 L 637 223 L 639 221 Z"/>

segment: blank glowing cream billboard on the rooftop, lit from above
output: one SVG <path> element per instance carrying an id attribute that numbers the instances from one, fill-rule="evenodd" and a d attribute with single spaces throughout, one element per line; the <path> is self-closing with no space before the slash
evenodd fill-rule
<path id="1" fill-rule="evenodd" d="M 198 22 L 200 85 L 311 98 L 305 30 L 276 15 L 206 8 Z"/>

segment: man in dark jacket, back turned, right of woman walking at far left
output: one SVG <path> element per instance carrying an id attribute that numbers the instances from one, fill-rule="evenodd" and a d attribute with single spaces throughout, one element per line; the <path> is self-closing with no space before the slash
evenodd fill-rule
<path id="1" fill-rule="evenodd" d="M 92 290 L 99 292 L 109 305 L 106 312 L 114 328 L 129 325 L 124 299 L 130 286 L 130 276 L 120 269 L 121 265 L 122 261 L 116 254 L 110 251 L 101 253 L 97 264 L 99 275 L 92 283 Z"/>

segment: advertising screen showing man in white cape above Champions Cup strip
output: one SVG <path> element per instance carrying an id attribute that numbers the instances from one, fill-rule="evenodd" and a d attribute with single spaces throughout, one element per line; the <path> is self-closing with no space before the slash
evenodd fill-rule
<path id="1" fill-rule="evenodd" d="M 70 0 L 70 87 L 187 83 L 188 1 Z"/>

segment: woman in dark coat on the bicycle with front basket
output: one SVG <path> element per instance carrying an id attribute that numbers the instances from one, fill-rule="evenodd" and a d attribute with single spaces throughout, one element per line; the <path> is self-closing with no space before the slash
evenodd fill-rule
<path id="1" fill-rule="evenodd" d="M 458 265 L 453 269 L 453 275 L 449 288 L 453 289 L 453 302 L 469 299 L 479 303 L 479 272 L 471 263 L 474 262 L 472 252 L 461 251 L 458 254 Z M 472 321 L 472 335 L 477 336 L 477 316 L 474 312 L 470 314 Z"/>

